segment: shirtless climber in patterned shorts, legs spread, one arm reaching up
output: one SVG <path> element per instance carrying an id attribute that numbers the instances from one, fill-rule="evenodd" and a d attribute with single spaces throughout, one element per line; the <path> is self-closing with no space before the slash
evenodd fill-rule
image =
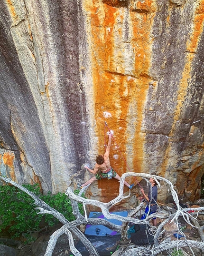
<path id="1" fill-rule="evenodd" d="M 94 174 L 94 177 L 92 177 L 90 180 L 88 180 L 87 182 L 85 182 L 82 185 L 77 185 L 77 187 L 84 187 L 90 183 L 93 183 L 93 181 L 95 180 L 99 180 L 102 178 L 108 178 L 111 179 L 112 177 L 117 179 L 117 180 L 121 180 L 121 177 L 113 170 L 113 168 L 111 167 L 110 164 L 110 159 L 109 159 L 109 153 L 110 153 L 110 148 L 111 148 L 111 133 L 109 133 L 109 139 L 108 139 L 108 145 L 105 151 L 104 156 L 102 155 L 98 155 L 96 157 L 96 164 L 94 169 L 90 169 L 87 166 L 84 166 L 84 168 L 88 169 L 91 173 Z M 133 187 L 134 184 L 128 184 L 125 180 L 124 180 L 124 184 L 129 187 L 130 189 Z"/>

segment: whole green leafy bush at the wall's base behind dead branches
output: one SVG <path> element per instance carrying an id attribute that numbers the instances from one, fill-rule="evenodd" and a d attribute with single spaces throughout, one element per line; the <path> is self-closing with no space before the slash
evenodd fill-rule
<path id="1" fill-rule="evenodd" d="M 50 207 L 55 208 L 62 213 L 69 221 L 74 220 L 72 214 L 72 206 L 70 200 L 65 193 L 58 193 L 56 195 L 43 196 L 40 194 L 40 187 L 36 185 L 23 185 L 29 191 L 33 192 L 37 197 L 44 200 Z M 78 193 L 78 191 L 76 191 Z M 0 232 L 7 230 L 11 238 L 24 236 L 28 241 L 28 234 L 31 231 L 38 231 L 42 215 L 37 214 L 34 200 L 25 192 L 17 187 L 5 185 L 0 186 Z M 83 208 L 79 205 L 81 213 Z M 47 226 L 54 226 L 59 223 L 58 219 L 52 215 L 46 214 L 45 221 Z"/>

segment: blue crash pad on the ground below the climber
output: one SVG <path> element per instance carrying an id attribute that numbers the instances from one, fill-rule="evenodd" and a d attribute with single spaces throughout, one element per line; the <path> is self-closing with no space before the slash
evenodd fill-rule
<path id="1" fill-rule="evenodd" d="M 127 217 L 128 216 L 128 212 L 127 211 L 123 211 L 123 212 L 111 212 L 111 214 L 115 214 L 115 215 L 120 215 L 122 217 Z M 107 219 L 104 217 L 104 215 L 102 214 L 102 212 L 90 212 L 89 214 L 89 218 L 102 218 L 102 219 L 106 219 L 108 221 L 110 221 L 113 224 L 116 225 L 122 225 L 122 222 L 116 219 Z M 116 232 L 116 231 L 112 231 L 111 229 L 109 229 L 106 226 L 103 225 L 86 225 L 86 229 L 84 232 L 85 235 L 89 235 L 89 236 L 115 236 L 115 235 L 120 235 L 120 233 Z"/>

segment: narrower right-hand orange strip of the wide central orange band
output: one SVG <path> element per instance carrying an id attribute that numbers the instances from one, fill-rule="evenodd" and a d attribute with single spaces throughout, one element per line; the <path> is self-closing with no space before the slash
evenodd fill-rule
<path id="1" fill-rule="evenodd" d="M 146 4 L 149 4 L 149 8 L 151 3 L 152 1 L 146 1 Z M 140 19 L 138 19 L 138 13 L 131 12 L 130 15 L 132 23 L 134 24 L 132 45 L 136 49 L 134 68 L 139 74 L 139 79 L 135 80 L 134 94 L 132 94 L 132 100 L 137 102 L 137 123 L 135 127 L 135 137 L 132 142 L 134 152 L 133 171 L 146 172 L 146 170 L 142 168 L 144 161 L 143 148 L 145 144 L 145 133 L 141 132 L 141 127 L 149 82 L 152 81 L 148 77 L 148 69 L 151 66 L 151 45 L 153 39 L 150 37 L 150 32 L 155 13 L 140 14 Z"/>

